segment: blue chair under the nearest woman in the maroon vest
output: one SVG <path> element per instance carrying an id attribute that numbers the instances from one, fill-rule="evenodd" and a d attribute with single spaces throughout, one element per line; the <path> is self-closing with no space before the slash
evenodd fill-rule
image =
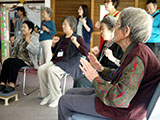
<path id="1" fill-rule="evenodd" d="M 149 106 L 147 108 L 147 116 L 143 120 L 149 120 L 159 96 L 160 96 L 160 82 L 159 82 L 159 84 L 158 84 L 158 86 L 152 96 L 152 99 L 149 103 Z M 94 116 L 80 114 L 80 113 L 73 114 L 72 119 L 73 120 L 111 120 L 111 119 L 107 119 L 107 118 L 94 117 Z"/>

